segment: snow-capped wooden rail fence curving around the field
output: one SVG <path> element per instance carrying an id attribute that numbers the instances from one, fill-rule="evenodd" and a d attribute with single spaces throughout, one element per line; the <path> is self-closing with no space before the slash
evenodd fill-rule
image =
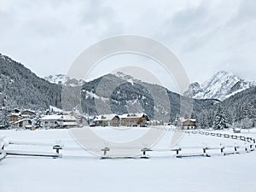
<path id="1" fill-rule="evenodd" d="M 160 129 L 160 128 L 156 128 Z M 163 128 L 162 128 L 163 129 Z M 218 155 L 227 155 L 227 154 L 241 154 L 241 153 L 249 153 L 255 150 L 255 139 L 252 137 L 243 137 L 243 136 L 236 136 L 236 135 L 230 135 L 226 133 L 214 133 L 214 132 L 207 132 L 207 131 L 184 131 L 184 130 L 177 130 L 177 129 L 167 129 L 164 128 L 166 131 L 182 131 L 184 133 L 188 134 L 201 134 L 205 136 L 210 137 L 223 137 L 225 139 L 236 139 L 240 140 L 242 142 L 245 142 L 244 145 L 222 145 L 219 146 L 183 146 L 183 147 L 173 147 L 173 148 L 142 148 L 141 149 L 141 156 L 140 158 L 149 158 L 147 156 L 148 153 L 152 154 L 154 152 L 170 152 L 170 154 L 173 153 L 173 155 L 177 158 L 184 158 L 184 157 L 195 157 L 195 156 L 202 156 L 202 157 L 210 157 L 212 154 L 212 151 L 217 151 Z M 4 147 L 7 147 L 7 145 L 30 145 L 30 146 L 47 146 L 51 147 L 55 150 L 55 153 L 43 153 L 43 152 L 29 152 L 29 151 L 12 151 L 12 150 L 4 150 Z M 1 139 L 1 149 L 0 149 L 0 160 L 3 160 L 6 155 L 25 155 L 25 156 L 38 156 L 38 157 L 52 157 L 52 158 L 61 158 L 62 155 L 60 154 L 61 150 L 78 150 L 82 149 L 80 147 L 73 147 L 73 146 L 65 146 L 61 144 L 61 142 L 58 143 L 38 143 L 38 142 L 24 142 L 24 141 L 16 141 L 16 140 L 9 140 L 8 144 L 6 141 Z M 108 159 L 112 158 L 108 156 L 109 151 L 113 149 L 134 149 L 127 147 L 122 148 L 90 148 L 86 149 L 83 148 L 85 151 L 102 151 L 102 159 Z M 196 152 L 192 152 L 193 150 L 197 150 Z M 127 158 L 127 157 L 119 157 L 119 158 Z"/>

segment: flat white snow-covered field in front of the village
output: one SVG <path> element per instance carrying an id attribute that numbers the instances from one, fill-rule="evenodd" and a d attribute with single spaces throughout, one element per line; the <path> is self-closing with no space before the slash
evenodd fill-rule
<path id="1" fill-rule="evenodd" d="M 116 131 L 94 128 L 110 141 L 143 135 L 147 128 Z M 231 133 L 231 131 L 224 131 Z M 154 148 L 168 148 L 173 131 L 166 131 Z M 177 159 L 174 152 L 149 152 L 150 159 L 101 160 L 80 148 L 68 130 L 0 131 L 9 140 L 63 143 L 62 158 L 7 156 L 0 161 L 0 192 L 256 192 L 256 152 Z M 241 135 L 256 137 L 256 130 Z M 178 146 L 243 145 L 220 137 L 185 134 Z M 54 152 L 45 146 L 9 145 L 8 150 Z M 188 152 L 189 149 L 187 149 Z M 199 149 L 198 149 L 199 150 Z M 195 152 L 195 151 L 193 151 Z M 196 151 L 197 152 L 197 151 Z"/>

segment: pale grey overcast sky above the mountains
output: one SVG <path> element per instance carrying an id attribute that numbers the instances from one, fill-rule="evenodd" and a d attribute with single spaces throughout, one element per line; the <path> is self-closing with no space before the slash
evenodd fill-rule
<path id="1" fill-rule="evenodd" d="M 191 82 L 218 70 L 256 80 L 255 10 L 254 0 L 0 0 L 0 53 L 44 77 L 99 40 L 134 34 L 172 49 Z"/>

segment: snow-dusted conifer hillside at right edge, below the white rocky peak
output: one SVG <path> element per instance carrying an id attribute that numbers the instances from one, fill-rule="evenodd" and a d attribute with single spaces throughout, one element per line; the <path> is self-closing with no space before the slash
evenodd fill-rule
<path id="1" fill-rule="evenodd" d="M 256 122 L 256 87 L 241 91 L 196 115 L 199 127 L 250 128 Z M 218 119 L 218 120 L 217 120 Z M 221 126 L 219 126 L 219 124 Z"/>

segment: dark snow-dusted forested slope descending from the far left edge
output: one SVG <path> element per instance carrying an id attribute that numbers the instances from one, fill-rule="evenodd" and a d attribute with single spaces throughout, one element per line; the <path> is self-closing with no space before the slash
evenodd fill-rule
<path id="1" fill-rule="evenodd" d="M 49 105 L 61 107 L 61 86 L 50 84 L 19 62 L 0 54 L 0 108 L 44 110 Z"/>

